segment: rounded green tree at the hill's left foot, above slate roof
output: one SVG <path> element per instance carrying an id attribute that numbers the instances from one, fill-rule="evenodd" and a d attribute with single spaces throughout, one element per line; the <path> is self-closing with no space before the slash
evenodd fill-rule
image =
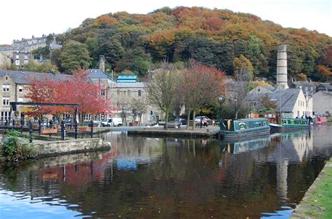
<path id="1" fill-rule="evenodd" d="M 60 63 L 67 73 L 90 66 L 90 55 L 85 44 L 69 41 L 61 48 Z"/>

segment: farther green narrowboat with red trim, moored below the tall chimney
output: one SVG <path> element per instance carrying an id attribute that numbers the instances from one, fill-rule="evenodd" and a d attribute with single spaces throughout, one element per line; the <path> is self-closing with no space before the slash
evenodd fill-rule
<path id="1" fill-rule="evenodd" d="M 269 125 L 272 131 L 283 131 L 289 129 L 303 129 L 310 128 L 310 122 L 306 119 L 299 118 L 281 118 L 270 119 Z"/>

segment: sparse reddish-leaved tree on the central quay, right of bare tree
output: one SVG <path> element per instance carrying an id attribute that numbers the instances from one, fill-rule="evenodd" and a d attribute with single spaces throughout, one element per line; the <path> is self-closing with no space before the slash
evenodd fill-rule
<path id="1" fill-rule="evenodd" d="M 204 64 L 191 60 L 188 67 L 181 71 L 181 87 L 179 87 L 180 97 L 186 106 L 187 120 L 190 120 L 195 113 L 205 104 L 212 105 L 218 101 L 219 95 L 223 92 L 223 79 L 225 74 Z M 187 123 L 188 129 L 188 123 Z M 195 129 L 195 125 L 193 125 Z"/>

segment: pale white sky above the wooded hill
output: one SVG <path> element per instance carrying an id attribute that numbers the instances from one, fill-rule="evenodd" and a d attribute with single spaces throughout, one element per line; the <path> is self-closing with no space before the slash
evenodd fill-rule
<path id="1" fill-rule="evenodd" d="M 42 34 L 60 34 L 87 17 L 127 11 L 148 13 L 169 6 L 203 6 L 251 13 L 282 27 L 305 27 L 332 36 L 331 0 L 2 0 L 0 44 Z"/>

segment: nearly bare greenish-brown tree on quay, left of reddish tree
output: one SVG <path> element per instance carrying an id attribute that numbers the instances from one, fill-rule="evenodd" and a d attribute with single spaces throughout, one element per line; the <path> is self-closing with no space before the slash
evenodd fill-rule
<path id="1" fill-rule="evenodd" d="M 166 129 L 168 114 L 177 95 L 178 76 L 179 72 L 172 64 L 162 62 L 160 69 L 153 73 L 152 78 L 144 82 L 148 102 L 158 106 L 161 111 L 165 112 Z"/>

